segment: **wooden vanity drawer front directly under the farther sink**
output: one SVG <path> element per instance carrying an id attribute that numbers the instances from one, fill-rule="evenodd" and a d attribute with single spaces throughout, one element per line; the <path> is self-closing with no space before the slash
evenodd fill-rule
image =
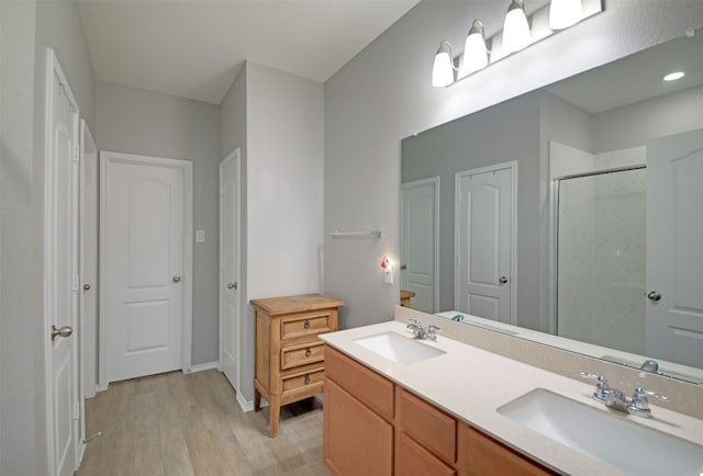
<path id="1" fill-rule="evenodd" d="M 387 420 L 393 418 L 393 383 L 339 351 L 325 347 L 327 377 Z"/>

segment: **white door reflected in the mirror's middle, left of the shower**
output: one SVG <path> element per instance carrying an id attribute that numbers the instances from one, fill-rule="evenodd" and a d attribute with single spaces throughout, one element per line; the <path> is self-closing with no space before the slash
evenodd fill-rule
<path id="1" fill-rule="evenodd" d="M 514 324 L 516 162 L 456 175 L 456 310 Z"/>

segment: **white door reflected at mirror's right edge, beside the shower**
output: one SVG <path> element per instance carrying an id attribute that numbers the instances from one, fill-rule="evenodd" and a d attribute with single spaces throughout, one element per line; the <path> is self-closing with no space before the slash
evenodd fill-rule
<path id="1" fill-rule="evenodd" d="M 703 366 L 703 129 L 647 145 L 647 354 Z"/>

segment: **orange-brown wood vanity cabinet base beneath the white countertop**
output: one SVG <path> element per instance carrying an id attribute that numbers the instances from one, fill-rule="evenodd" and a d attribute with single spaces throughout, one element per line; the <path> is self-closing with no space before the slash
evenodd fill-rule
<path id="1" fill-rule="evenodd" d="M 325 347 L 324 463 L 335 476 L 555 474 Z"/>

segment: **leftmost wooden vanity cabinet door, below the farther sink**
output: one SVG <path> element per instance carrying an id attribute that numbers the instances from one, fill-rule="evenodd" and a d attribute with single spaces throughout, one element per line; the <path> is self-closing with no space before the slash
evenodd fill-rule
<path id="1" fill-rule="evenodd" d="M 335 476 L 391 476 L 393 427 L 327 378 L 323 452 Z"/>

